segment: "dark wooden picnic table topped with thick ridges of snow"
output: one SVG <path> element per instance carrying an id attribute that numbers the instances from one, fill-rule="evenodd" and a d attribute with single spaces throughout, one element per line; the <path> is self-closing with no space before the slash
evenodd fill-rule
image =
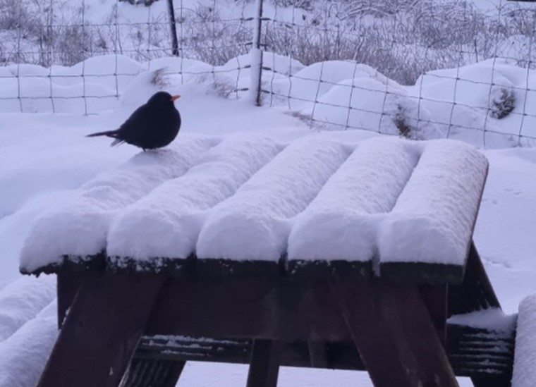
<path id="1" fill-rule="evenodd" d="M 28 233 L 20 269 L 58 274 L 62 326 L 39 386 L 117 386 L 147 348 L 125 380 L 172 386 L 203 346 L 162 349 L 183 336 L 250 340 L 248 386 L 304 362 L 365 367 L 375 386 L 456 386 L 455 371 L 506 385 L 511 330 L 446 322 L 500 309 L 472 242 L 486 176 L 485 156 L 453 140 L 181 135 L 137 154 Z M 491 344 L 458 345 L 475 338 Z M 498 338 L 509 346 L 485 358 Z"/>

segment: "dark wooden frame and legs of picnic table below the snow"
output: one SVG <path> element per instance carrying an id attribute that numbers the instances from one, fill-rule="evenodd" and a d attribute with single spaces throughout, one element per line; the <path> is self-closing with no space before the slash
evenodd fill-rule
<path id="1" fill-rule="evenodd" d="M 236 265 L 189 257 L 139 274 L 125 262 L 123 269 L 110 259 L 95 262 L 59 268 L 59 323 L 65 322 L 40 387 L 117 386 L 121 379 L 123 387 L 167 387 L 185 361 L 209 359 L 252 362 L 250 386 L 275 386 L 280 363 L 339 369 L 365 363 L 376 386 L 456 386 L 453 370 L 476 387 L 509 386 L 510 336 L 500 343 L 506 350 L 497 350 L 497 340 L 482 339 L 481 331 L 456 336 L 451 327 L 446 335 L 447 316 L 500 307 L 473 244 L 463 281 L 449 285 L 374 278 L 366 264 L 304 269 L 284 260 Z M 226 337 L 234 344 L 214 353 L 205 345 L 164 353 L 142 340 L 125 374 L 142 334 Z M 257 351 L 250 350 L 251 338 Z"/>

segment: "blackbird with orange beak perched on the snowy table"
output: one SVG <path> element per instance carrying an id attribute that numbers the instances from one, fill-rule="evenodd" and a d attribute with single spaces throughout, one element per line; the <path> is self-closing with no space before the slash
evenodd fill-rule
<path id="1" fill-rule="evenodd" d="M 115 138 L 114 145 L 126 142 L 141 149 L 162 148 L 173 141 L 181 128 L 181 115 L 173 104 L 179 95 L 157 92 L 116 130 L 92 133 L 85 137 Z"/>

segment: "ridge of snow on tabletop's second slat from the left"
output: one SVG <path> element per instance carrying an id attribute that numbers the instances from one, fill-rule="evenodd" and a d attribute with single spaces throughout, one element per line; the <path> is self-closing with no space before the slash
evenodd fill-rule
<path id="1" fill-rule="evenodd" d="M 188 173 L 166 181 L 118 216 L 109 233 L 109 256 L 188 257 L 206 211 L 233 195 L 281 148 L 261 135 L 233 135 L 222 141 Z"/>

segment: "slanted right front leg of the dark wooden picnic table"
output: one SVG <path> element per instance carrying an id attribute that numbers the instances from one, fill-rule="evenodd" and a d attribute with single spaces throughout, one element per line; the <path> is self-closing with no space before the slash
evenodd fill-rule
<path id="1" fill-rule="evenodd" d="M 332 290 L 374 386 L 458 387 L 417 288 L 370 281 Z"/>

